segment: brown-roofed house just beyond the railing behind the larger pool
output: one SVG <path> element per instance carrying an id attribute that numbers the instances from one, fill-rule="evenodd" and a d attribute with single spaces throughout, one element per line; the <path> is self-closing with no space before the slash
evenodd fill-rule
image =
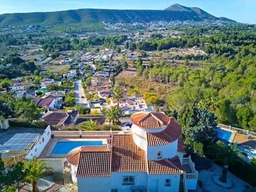
<path id="1" fill-rule="evenodd" d="M 57 125 L 59 127 L 66 127 L 74 125 L 79 117 L 78 110 L 68 111 L 48 111 L 41 119 L 50 126 Z"/>

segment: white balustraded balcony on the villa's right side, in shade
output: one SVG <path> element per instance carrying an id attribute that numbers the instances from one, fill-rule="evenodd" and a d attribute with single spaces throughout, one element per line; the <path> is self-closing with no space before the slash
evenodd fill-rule
<path id="1" fill-rule="evenodd" d="M 195 169 L 195 164 L 192 162 L 191 157 L 183 158 L 182 166 L 184 174 L 182 175 L 182 183 L 184 191 L 195 190 L 198 178 L 198 171 Z"/>

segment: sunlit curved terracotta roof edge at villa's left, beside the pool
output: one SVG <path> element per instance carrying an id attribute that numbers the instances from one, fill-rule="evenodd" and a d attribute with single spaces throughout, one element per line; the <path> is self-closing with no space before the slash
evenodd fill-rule
<path id="1" fill-rule="evenodd" d="M 106 151 L 110 151 L 107 147 L 107 145 L 101 145 L 101 146 L 80 146 L 80 147 L 76 147 L 75 149 L 72 149 L 71 151 L 69 151 L 69 153 L 67 154 L 66 158 L 68 163 L 72 164 L 72 165 L 77 165 L 78 164 L 78 160 L 80 157 L 81 152 L 97 152 L 97 151 L 101 151 L 101 152 L 106 152 Z"/>

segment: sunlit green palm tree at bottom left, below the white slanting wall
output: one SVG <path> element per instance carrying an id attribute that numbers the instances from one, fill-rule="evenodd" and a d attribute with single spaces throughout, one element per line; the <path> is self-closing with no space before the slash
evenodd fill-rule
<path id="1" fill-rule="evenodd" d="M 24 163 L 24 169 L 28 172 L 26 180 L 32 182 L 33 192 L 38 192 L 37 180 L 46 175 L 46 171 L 53 170 L 52 167 L 47 167 L 46 161 L 38 161 L 37 157 L 34 157 L 33 161 L 28 159 Z"/>

